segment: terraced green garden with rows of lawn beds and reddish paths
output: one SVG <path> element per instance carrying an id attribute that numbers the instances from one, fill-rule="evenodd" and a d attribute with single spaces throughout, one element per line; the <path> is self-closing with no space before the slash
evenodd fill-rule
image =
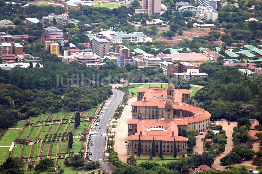
<path id="1" fill-rule="evenodd" d="M 96 108 L 91 108 L 86 114 L 92 115 L 95 110 Z M 71 116 L 72 120 L 69 120 Z M 10 155 L 12 155 L 12 157 L 22 157 L 25 162 L 29 159 L 30 162 L 36 163 L 39 157 L 44 159 L 50 155 L 51 159 L 53 159 L 53 157 L 59 155 L 60 158 L 56 161 L 57 165 L 61 166 L 65 170 L 65 173 L 76 173 L 71 167 L 63 167 L 64 157 L 67 152 L 68 132 L 73 131 L 75 126 L 74 117 L 74 112 L 66 113 L 62 110 L 57 113 L 44 113 L 36 117 L 31 117 L 29 120 L 19 121 L 12 128 L 20 129 L 8 129 L 0 140 L 0 146 L 7 146 L 0 147 L 0 164 L 3 163 L 6 158 L 10 157 Z M 31 125 L 25 127 L 26 123 L 31 123 Z M 80 133 L 83 132 L 85 124 L 89 126 L 90 122 L 82 121 L 80 126 L 74 130 L 73 134 L 79 136 Z M 12 142 L 15 142 L 17 138 L 28 140 L 31 145 L 16 143 L 15 147 L 13 149 L 11 148 L 12 151 L 9 151 L 9 146 L 11 146 Z M 83 142 L 75 138 L 73 147 L 69 151 L 78 153 L 79 150 L 82 150 L 82 146 Z M 26 167 L 24 167 L 24 170 L 25 169 Z M 25 171 L 25 173 L 30 172 Z"/>

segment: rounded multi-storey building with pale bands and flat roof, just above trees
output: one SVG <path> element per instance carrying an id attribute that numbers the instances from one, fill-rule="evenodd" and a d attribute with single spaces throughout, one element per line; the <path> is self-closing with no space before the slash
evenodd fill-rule
<path id="1" fill-rule="evenodd" d="M 99 56 L 96 53 L 71 53 L 71 55 L 78 64 L 82 64 L 84 66 L 86 66 L 87 64 L 99 63 Z"/>

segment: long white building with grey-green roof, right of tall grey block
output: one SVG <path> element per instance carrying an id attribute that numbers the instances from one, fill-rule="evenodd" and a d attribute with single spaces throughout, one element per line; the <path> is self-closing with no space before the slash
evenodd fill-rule
<path id="1" fill-rule="evenodd" d="M 117 34 L 114 34 L 111 36 L 112 43 L 122 43 L 123 41 L 129 41 L 129 42 L 153 42 L 153 39 L 151 37 L 148 37 L 144 35 L 143 33 L 124 33 L 119 32 Z"/>

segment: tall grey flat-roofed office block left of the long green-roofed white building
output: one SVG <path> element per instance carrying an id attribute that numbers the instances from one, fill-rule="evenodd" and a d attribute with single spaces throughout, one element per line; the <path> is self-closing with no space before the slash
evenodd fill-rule
<path id="1" fill-rule="evenodd" d="M 92 51 L 97 56 L 104 58 L 110 49 L 110 42 L 106 40 L 104 35 L 96 34 L 92 37 Z"/>

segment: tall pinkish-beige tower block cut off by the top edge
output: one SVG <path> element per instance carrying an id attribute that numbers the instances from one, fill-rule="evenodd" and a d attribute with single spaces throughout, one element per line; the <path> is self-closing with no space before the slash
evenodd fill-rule
<path id="1" fill-rule="evenodd" d="M 160 14 L 161 0 L 143 0 L 142 8 L 148 9 L 149 16 L 152 16 L 153 14 Z"/>

